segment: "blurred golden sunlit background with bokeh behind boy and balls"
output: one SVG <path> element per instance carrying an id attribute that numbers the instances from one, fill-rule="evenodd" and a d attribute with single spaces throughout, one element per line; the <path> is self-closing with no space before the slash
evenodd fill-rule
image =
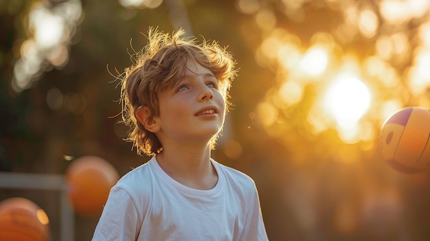
<path id="1" fill-rule="evenodd" d="M 213 157 L 249 174 L 270 240 L 429 240 L 429 172 L 383 161 L 379 130 L 430 107 L 428 0 L 0 0 L 0 170 L 64 174 L 96 155 L 147 161 L 122 139 L 118 73 L 150 26 L 228 46 L 240 67 Z M 58 198 L 0 190 L 43 207 Z M 76 215 L 76 240 L 98 218 Z"/>

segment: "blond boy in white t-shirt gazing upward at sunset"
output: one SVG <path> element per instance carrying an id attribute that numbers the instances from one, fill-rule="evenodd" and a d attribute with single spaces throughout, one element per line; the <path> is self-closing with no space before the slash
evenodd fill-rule
<path id="1" fill-rule="evenodd" d="M 253 180 L 210 157 L 236 62 L 183 34 L 150 29 L 126 69 L 128 140 L 152 159 L 112 188 L 93 240 L 267 240 Z"/>

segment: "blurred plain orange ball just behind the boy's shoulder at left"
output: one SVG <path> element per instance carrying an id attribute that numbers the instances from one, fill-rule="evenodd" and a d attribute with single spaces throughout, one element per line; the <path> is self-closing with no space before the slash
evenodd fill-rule
<path id="1" fill-rule="evenodd" d="M 102 214 L 109 191 L 119 179 L 111 163 L 95 156 L 76 159 L 65 175 L 71 207 L 77 214 L 86 217 Z"/>

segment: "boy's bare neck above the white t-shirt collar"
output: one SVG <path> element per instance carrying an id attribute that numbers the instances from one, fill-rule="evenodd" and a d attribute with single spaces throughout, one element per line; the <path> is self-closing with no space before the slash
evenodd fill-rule
<path id="1" fill-rule="evenodd" d="M 216 185 L 218 174 L 210 161 L 210 149 L 169 150 L 157 154 L 157 162 L 172 179 L 198 190 L 210 190 Z"/>

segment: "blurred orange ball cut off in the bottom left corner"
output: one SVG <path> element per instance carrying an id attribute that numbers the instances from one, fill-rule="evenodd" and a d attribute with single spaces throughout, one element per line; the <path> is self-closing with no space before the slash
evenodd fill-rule
<path id="1" fill-rule="evenodd" d="M 49 219 L 26 198 L 8 198 L 0 203 L 1 241 L 47 241 Z"/>

